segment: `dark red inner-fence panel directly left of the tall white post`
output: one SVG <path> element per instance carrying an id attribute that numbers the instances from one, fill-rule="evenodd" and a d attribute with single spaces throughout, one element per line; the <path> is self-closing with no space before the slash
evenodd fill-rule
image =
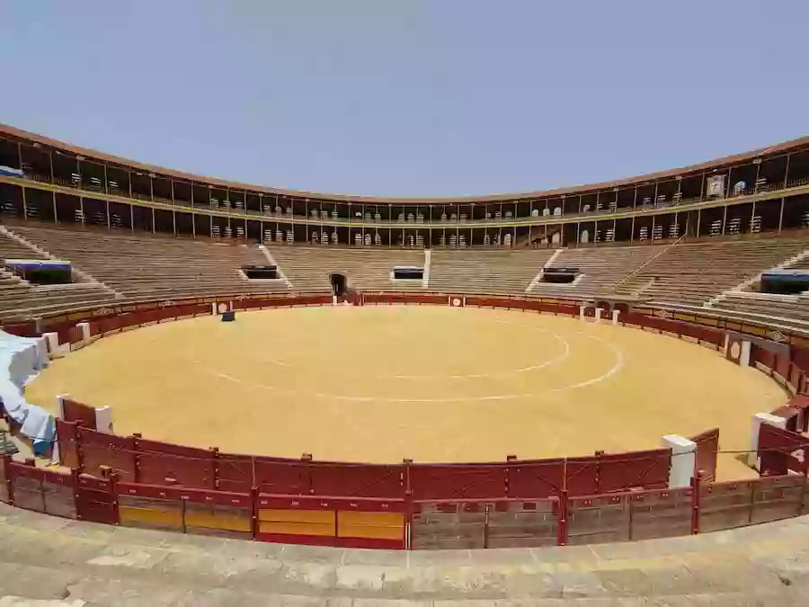
<path id="1" fill-rule="evenodd" d="M 597 493 L 662 488 L 669 486 L 671 450 L 602 453 L 598 456 L 598 466 Z"/>

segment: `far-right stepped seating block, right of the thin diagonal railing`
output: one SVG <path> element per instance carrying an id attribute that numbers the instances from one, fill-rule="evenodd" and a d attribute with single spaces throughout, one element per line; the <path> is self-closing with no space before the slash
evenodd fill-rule
<path id="1" fill-rule="evenodd" d="M 685 242 L 669 247 L 630 280 L 646 281 L 641 295 L 655 302 L 701 306 L 807 247 L 806 237 Z"/>

